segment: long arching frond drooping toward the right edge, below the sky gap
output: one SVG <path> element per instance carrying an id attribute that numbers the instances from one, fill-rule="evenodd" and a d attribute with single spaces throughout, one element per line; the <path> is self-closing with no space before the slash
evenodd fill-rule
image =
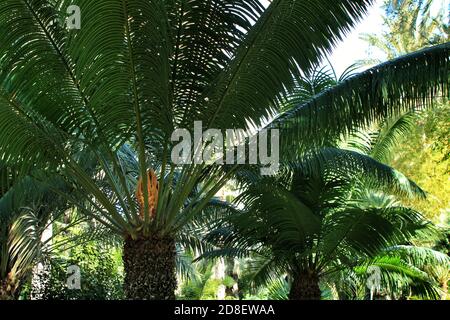
<path id="1" fill-rule="evenodd" d="M 449 95 L 449 51 L 446 43 L 378 65 L 281 114 L 268 127 L 281 130 L 281 150 L 294 145 L 308 150 L 355 127 L 429 107 L 434 98 Z"/>

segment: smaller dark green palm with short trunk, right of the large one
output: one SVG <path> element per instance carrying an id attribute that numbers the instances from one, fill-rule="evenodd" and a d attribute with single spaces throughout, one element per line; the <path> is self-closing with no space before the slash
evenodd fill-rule
<path id="1" fill-rule="evenodd" d="M 253 179 L 247 178 L 237 198 L 243 211 L 207 236 L 220 249 L 202 257 L 256 255 L 256 283 L 288 275 L 290 299 L 320 299 L 319 284 L 330 275 L 352 270 L 428 228 L 411 208 L 361 203 L 368 186 L 398 192 L 402 179 L 391 170 L 361 154 L 326 149 L 277 177 L 247 174 Z"/>

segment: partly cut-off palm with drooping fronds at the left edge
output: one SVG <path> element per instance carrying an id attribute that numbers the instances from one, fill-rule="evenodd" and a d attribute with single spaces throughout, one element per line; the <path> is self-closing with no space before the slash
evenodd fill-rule
<path id="1" fill-rule="evenodd" d="M 18 298 L 31 280 L 33 268 L 62 244 L 54 241 L 55 237 L 84 220 L 48 230 L 68 207 L 46 185 L 69 192 L 67 186 L 55 178 L 45 183 L 30 176 L 20 178 L 18 172 L 0 163 L 0 299 Z M 66 240 L 75 241 L 74 237 Z"/>

